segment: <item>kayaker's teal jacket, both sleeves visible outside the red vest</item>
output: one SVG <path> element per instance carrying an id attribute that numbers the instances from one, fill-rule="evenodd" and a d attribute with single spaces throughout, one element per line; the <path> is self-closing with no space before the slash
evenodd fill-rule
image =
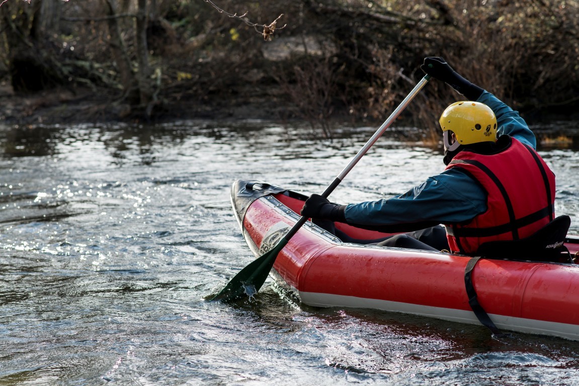
<path id="1" fill-rule="evenodd" d="M 484 91 L 477 101 L 488 105 L 497 117 L 497 137 L 507 134 L 536 149 L 535 136 L 518 112 L 488 91 Z M 349 204 L 345 216 L 351 224 L 398 232 L 441 223 L 467 222 L 486 209 L 485 190 L 460 168 L 452 168 L 429 177 L 404 194 Z"/>

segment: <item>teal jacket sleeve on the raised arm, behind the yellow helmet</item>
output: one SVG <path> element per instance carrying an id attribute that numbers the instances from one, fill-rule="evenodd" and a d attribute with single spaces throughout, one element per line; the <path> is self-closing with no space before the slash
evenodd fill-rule
<path id="1" fill-rule="evenodd" d="M 505 105 L 488 91 L 483 91 L 477 102 L 489 106 L 497 117 L 497 137 L 507 134 L 537 149 L 537 139 L 519 113 Z"/>

